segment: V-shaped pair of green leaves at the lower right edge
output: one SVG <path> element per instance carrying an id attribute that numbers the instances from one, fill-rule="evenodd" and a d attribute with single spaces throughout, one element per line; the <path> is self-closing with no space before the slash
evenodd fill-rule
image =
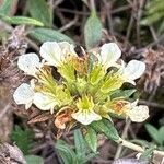
<path id="1" fill-rule="evenodd" d="M 145 129 L 150 137 L 161 147 L 164 147 L 164 126 L 156 129 L 154 126 L 147 124 Z"/>

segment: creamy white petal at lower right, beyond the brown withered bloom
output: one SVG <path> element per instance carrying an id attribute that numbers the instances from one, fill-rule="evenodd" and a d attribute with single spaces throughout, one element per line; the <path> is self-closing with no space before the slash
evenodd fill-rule
<path id="1" fill-rule="evenodd" d="M 129 110 L 128 116 L 132 121 L 142 122 L 149 117 L 149 108 L 145 105 L 139 105 Z"/>

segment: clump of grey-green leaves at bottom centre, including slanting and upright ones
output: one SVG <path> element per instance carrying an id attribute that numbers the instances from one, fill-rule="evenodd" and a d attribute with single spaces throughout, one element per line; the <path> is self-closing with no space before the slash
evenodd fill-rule
<path id="1" fill-rule="evenodd" d="M 80 129 L 74 130 L 74 150 L 71 149 L 71 147 L 62 140 L 58 140 L 55 144 L 65 164 L 85 164 L 96 155 L 87 151 L 85 140 Z"/>

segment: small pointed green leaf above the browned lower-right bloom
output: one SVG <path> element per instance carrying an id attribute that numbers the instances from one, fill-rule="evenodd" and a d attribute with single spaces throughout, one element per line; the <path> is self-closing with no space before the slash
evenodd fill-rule
<path id="1" fill-rule="evenodd" d="M 122 97 L 122 98 L 129 98 L 133 93 L 136 92 L 134 89 L 132 90 L 117 90 L 116 92 L 114 92 L 114 94 L 112 94 L 110 98 L 116 98 L 116 97 Z"/>

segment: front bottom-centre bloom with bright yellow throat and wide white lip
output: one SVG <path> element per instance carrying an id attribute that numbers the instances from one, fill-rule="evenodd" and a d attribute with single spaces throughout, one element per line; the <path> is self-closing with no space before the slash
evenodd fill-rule
<path id="1" fill-rule="evenodd" d="M 72 118 L 83 125 L 90 125 L 92 121 L 99 120 L 102 117 L 94 112 L 92 97 L 83 96 L 77 103 L 78 112 L 72 114 Z"/>

